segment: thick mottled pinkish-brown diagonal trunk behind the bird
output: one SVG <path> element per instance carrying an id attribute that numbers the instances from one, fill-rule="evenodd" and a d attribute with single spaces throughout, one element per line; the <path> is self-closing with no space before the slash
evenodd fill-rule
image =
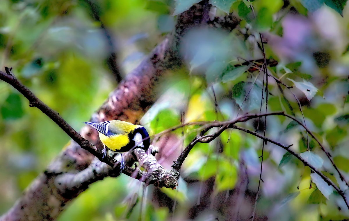
<path id="1" fill-rule="evenodd" d="M 158 79 L 163 73 L 180 64 L 178 46 L 181 37 L 192 27 L 202 25 L 203 2 L 194 5 L 189 10 L 178 16 L 176 30 L 172 35 L 166 37 L 144 60 L 134 69 L 127 77 L 122 80 L 116 90 L 114 90 L 107 101 L 99 108 L 99 110 L 91 117 L 90 121 L 105 120 L 126 120 L 137 123 L 142 115 L 156 101 L 156 85 Z M 238 21 L 230 22 L 229 25 L 236 26 Z M 222 26 L 221 26 L 222 27 Z M 233 27 L 232 27 L 233 28 Z M 18 85 L 18 89 L 22 89 Z M 30 99 L 34 98 L 29 96 Z M 31 102 L 32 106 L 45 106 L 40 102 Z M 55 122 L 64 125 L 64 122 L 57 117 L 57 113 L 49 111 Z M 98 134 L 89 127 L 83 127 L 81 136 L 94 144 L 89 144 L 83 140 L 71 128 L 64 127 L 65 132 L 72 132 L 76 135 L 75 139 L 70 142 L 65 150 L 61 152 L 48 166 L 45 173 L 40 174 L 27 188 L 24 194 L 17 200 L 15 205 L 4 214 L 0 220 L 53 220 L 64 210 L 66 204 L 77 197 L 81 192 L 86 190 L 87 186 L 81 186 L 76 183 L 70 186 L 69 191 L 65 192 L 64 188 L 57 186 L 56 179 L 64 174 L 75 174 L 82 176 L 86 168 L 92 167 L 92 172 L 101 171 L 94 170 L 91 162 L 96 162 L 95 156 L 100 156 L 101 141 Z M 93 154 L 80 145 L 91 150 Z M 116 161 L 113 158 L 106 158 L 108 165 L 115 166 Z M 103 164 L 95 165 L 101 167 Z M 117 168 L 116 168 L 117 169 Z M 153 176 L 149 176 L 149 172 L 140 171 L 127 167 L 125 174 L 131 175 L 136 179 L 148 177 L 149 183 L 155 182 Z M 82 172 L 82 174 L 80 174 Z M 117 176 L 115 171 L 108 172 L 110 176 Z M 103 176 L 100 176 L 101 179 Z M 73 179 L 74 180 L 74 179 Z M 145 182 L 148 182 L 147 180 Z M 160 184 L 159 184 L 160 185 Z M 79 186 L 81 188 L 79 188 Z"/>

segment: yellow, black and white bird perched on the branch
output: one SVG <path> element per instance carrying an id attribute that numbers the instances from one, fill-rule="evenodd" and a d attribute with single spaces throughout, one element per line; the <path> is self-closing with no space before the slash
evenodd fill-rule
<path id="1" fill-rule="evenodd" d="M 107 154 L 107 149 L 114 152 L 127 152 L 134 148 L 148 150 L 150 137 L 141 125 L 136 125 L 122 120 L 108 120 L 99 123 L 84 122 L 98 131 L 99 139 L 103 143 L 103 156 Z M 121 153 L 121 171 L 125 167 L 125 161 Z"/>

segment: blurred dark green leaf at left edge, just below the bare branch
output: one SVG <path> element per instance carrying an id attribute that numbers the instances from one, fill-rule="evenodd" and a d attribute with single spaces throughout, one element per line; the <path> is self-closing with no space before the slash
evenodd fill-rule
<path id="1" fill-rule="evenodd" d="M 4 120 L 15 120 L 23 117 L 24 111 L 20 95 L 10 93 L 1 106 L 1 116 Z"/>

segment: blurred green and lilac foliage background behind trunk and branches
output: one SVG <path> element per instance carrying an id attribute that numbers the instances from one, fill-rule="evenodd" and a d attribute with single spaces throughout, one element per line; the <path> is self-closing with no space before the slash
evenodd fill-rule
<path id="1" fill-rule="evenodd" d="M 116 44 L 112 50 L 124 76 L 174 29 L 175 16 L 198 1 L 96 2 L 101 21 Z M 172 71 L 161 82 L 158 102 L 141 121 L 149 133 L 154 135 L 181 122 L 229 120 L 247 112 L 258 113 L 261 104 L 265 109 L 263 74 L 246 72 L 258 64 L 239 66 L 263 58 L 257 46 L 258 32 L 262 32 L 268 41 L 266 57 L 279 62 L 268 72 L 294 86 L 282 86 L 281 92 L 269 77 L 268 111 L 285 111 L 300 120 L 303 112 L 307 127 L 331 150 L 349 180 L 346 1 L 210 3 L 217 7 L 216 16 L 233 12 L 242 21 L 231 33 L 195 29 L 185 35 L 181 52 L 188 69 Z M 101 23 L 91 16 L 86 1 L 0 2 L 1 67 L 13 67 L 24 85 L 77 130 L 117 86 L 106 62 L 109 47 Z M 69 138 L 40 111 L 29 108 L 27 100 L 9 85 L 0 82 L 0 92 L 0 213 L 4 213 Z M 243 124 L 260 133 L 264 125 L 262 120 Z M 268 117 L 266 129 L 268 137 L 294 144 L 295 151 L 317 164 L 343 190 L 348 189 L 319 145 L 309 139 L 308 148 L 304 129 L 294 121 Z M 197 126 L 189 126 L 155 140 L 153 144 L 164 147 L 157 156 L 159 162 L 170 169 L 197 133 Z M 194 147 L 176 190 L 144 189 L 142 183 L 124 175 L 107 178 L 77 197 L 59 220 L 138 220 L 140 215 L 144 220 L 225 220 L 227 214 L 248 219 L 258 187 L 261 146 L 254 136 L 227 130 L 214 142 Z M 256 220 L 349 217 L 342 198 L 332 188 L 318 181 L 295 157 L 269 143 L 262 177 Z M 241 195 L 238 192 L 242 199 L 236 198 Z M 240 201 L 234 204 L 233 200 Z M 232 212 L 235 210 L 239 215 Z"/>

